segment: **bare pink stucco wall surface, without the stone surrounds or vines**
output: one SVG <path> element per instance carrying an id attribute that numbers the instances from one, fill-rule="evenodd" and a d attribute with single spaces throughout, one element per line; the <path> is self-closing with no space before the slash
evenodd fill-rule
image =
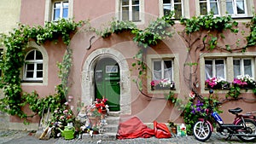
<path id="1" fill-rule="evenodd" d="M 20 22 L 29 24 L 29 25 L 44 25 L 44 0 L 22 0 L 21 3 L 21 11 L 20 11 Z M 145 0 L 145 14 L 146 15 L 159 15 L 159 1 L 156 0 Z M 254 1 L 254 4 L 256 2 Z M 190 16 L 195 15 L 195 0 L 189 0 L 189 9 Z M 80 0 L 80 1 L 73 1 L 73 16 L 75 20 L 91 20 L 92 26 L 98 28 L 102 25 L 104 21 L 112 20 L 114 13 L 115 13 L 115 0 L 101 0 L 101 1 L 92 1 L 92 0 Z M 147 19 L 146 19 L 147 20 Z M 148 19 L 150 20 L 150 19 Z M 146 21 L 147 22 L 147 21 Z M 145 23 L 146 23 L 145 22 Z M 104 23 L 103 23 L 104 24 Z M 106 24 L 106 23 L 105 23 Z M 177 32 L 183 30 L 183 26 L 177 24 L 175 25 L 175 37 L 168 39 L 166 42 L 161 42 L 159 45 L 152 47 L 151 50 L 157 52 L 158 54 L 178 54 L 179 55 L 179 66 L 183 66 L 185 56 L 187 55 L 186 45 L 184 44 L 182 38 L 177 35 Z M 241 29 L 245 29 L 244 26 L 240 27 Z M 95 35 L 95 33 L 93 33 Z M 110 48 L 115 46 L 118 43 L 123 43 L 127 41 L 131 41 L 130 46 L 127 48 L 118 48 L 119 52 L 122 55 L 125 55 L 127 58 L 127 63 L 129 63 L 131 67 L 131 63 L 134 62 L 131 59 L 134 54 L 137 53 L 137 45 L 136 43 L 132 42 L 133 35 L 126 33 L 120 33 L 119 35 L 113 34 L 111 37 L 103 39 L 102 37 L 97 37 L 96 41 L 92 44 L 92 47 L 88 50 L 89 46 L 89 39 L 91 35 L 75 35 L 70 46 L 73 48 L 73 55 L 75 60 L 73 61 L 73 70 L 71 72 L 71 79 L 72 79 L 72 87 L 70 89 L 70 94 L 74 96 L 74 100 L 72 101 L 72 105 L 76 106 L 77 102 L 81 100 L 81 72 L 83 70 L 84 60 L 86 57 L 90 55 L 96 49 L 102 48 Z M 238 34 L 236 37 L 240 37 L 243 39 L 241 44 L 245 42 L 244 37 L 241 34 Z M 236 37 L 227 37 L 221 43 L 232 43 Z M 196 38 L 196 37 L 195 37 Z M 168 44 L 166 44 L 168 43 Z M 26 92 L 31 92 L 32 90 L 36 89 L 39 96 L 44 97 L 46 95 L 53 95 L 55 93 L 55 85 L 60 84 L 60 79 L 57 77 L 58 68 L 56 66 L 57 61 L 62 60 L 62 55 L 65 52 L 66 46 L 63 43 L 45 43 L 44 48 L 46 49 L 49 55 L 49 65 L 48 65 L 48 84 L 44 86 L 40 85 L 23 85 L 22 88 Z M 171 49 L 171 50 L 170 50 Z M 256 51 L 256 49 L 251 49 L 252 51 Z M 208 52 L 207 50 L 205 52 Z M 216 51 L 212 51 L 216 52 Z M 192 52 L 193 53 L 193 52 Z M 148 51 L 150 54 L 150 51 Z M 195 55 L 198 55 L 198 52 L 194 52 L 191 59 L 196 59 Z M 128 59 L 129 58 L 129 59 Z M 193 67 L 196 68 L 196 67 Z M 200 67 L 197 67 L 200 68 Z M 186 96 L 187 93 L 183 93 L 183 91 L 189 90 L 186 87 L 186 82 L 183 81 L 183 69 L 180 69 L 180 94 L 177 96 Z M 200 72 L 198 71 L 195 73 L 195 76 L 200 79 Z M 131 77 L 137 77 L 137 71 L 131 72 Z M 158 122 L 167 122 L 170 118 L 176 118 L 177 123 L 182 122 L 182 118 L 178 117 L 179 113 L 173 110 L 173 104 L 169 103 L 166 100 L 151 100 L 147 97 L 140 94 L 139 90 L 137 89 L 137 85 L 131 83 L 131 115 L 125 115 L 123 118 L 129 118 L 133 115 L 139 116 L 143 122 L 150 123 L 154 120 Z M 198 91 L 201 92 L 201 86 L 198 88 Z M 148 94 L 152 95 L 152 94 Z M 220 98 L 224 99 L 224 95 L 219 95 Z M 163 98 L 164 95 L 154 95 L 157 97 Z M 205 95 L 207 96 L 207 95 Z M 246 96 L 248 99 L 253 99 L 255 96 L 253 94 L 244 94 L 242 96 Z M 150 106 L 150 107 L 149 107 Z M 160 109 L 160 106 L 164 106 L 163 109 Z M 253 110 L 255 103 L 250 103 L 246 101 L 231 101 L 225 103 L 223 106 L 224 113 L 221 114 L 224 116 L 224 120 L 228 123 L 231 122 L 232 117 L 230 114 L 227 114 L 228 108 L 235 108 L 241 107 L 244 108 L 244 111 Z M 15 118 L 13 119 L 15 121 Z"/>

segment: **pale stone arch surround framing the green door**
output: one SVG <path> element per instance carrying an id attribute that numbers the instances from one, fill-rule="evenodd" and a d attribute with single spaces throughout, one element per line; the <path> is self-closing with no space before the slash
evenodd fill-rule
<path id="1" fill-rule="evenodd" d="M 90 105 L 95 99 L 94 67 L 102 58 L 116 60 L 120 67 L 120 111 L 121 114 L 131 114 L 131 72 L 125 56 L 111 48 L 96 49 L 84 60 L 82 69 L 82 95 L 84 105 Z"/>

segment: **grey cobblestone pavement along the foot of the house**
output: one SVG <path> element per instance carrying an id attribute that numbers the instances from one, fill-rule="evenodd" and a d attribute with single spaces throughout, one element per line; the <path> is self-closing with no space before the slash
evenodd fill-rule
<path id="1" fill-rule="evenodd" d="M 254 141 L 256 142 L 256 141 Z M 104 140 L 95 140 L 95 139 L 73 139 L 65 140 L 63 138 L 51 138 L 49 140 L 38 140 L 33 133 L 30 131 L 20 131 L 20 130 L 0 130 L 0 144 L 84 144 L 84 143 L 100 143 L 100 144 L 197 144 L 197 143 L 211 143 L 211 144 L 230 144 L 244 143 L 236 138 L 232 137 L 230 141 L 225 141 L 224 135 L 218 135 L 212 133 L 211 138 L 206 142 L 196 141 L 195 138 L 191 135 L 184 137 L 173 137 L 170 139 L 157 139 L 152 138 L 137 138 L 137 139 L 125 139 L 125 140 L 116 140 L 116 141 L 104 141 Z"/>

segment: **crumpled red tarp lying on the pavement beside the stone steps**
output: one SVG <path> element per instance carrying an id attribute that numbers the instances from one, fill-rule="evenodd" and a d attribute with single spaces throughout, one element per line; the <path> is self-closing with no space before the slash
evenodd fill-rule
<path id="1" fill-rule="evenodd" d="M 130 118 L 119 124 L 118 139 L 149 138 L 152 136 L 170 138 L 172 135 L 166 124 L 158 124 L 154 121 L 154 130 L 152 130 L 137 117 Z"/>

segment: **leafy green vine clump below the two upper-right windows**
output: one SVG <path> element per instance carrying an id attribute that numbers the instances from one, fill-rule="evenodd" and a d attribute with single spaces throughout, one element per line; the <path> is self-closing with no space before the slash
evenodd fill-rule
<path id="1" fill-rule="evenodd" d="M 204 37 L 199 37 L 195 39 L 195 41 L 198 41 L 201 39 L 203 46 L 207 49 L 215 49 L 218 47 L 218 39 L 224 38 L 224 35 L 222 32 L 226 30 L 230 30 L 230 32 L 237 33 L 238 28 L 234 28 L 238 26 L 238 22 L 235 20 L 232 20 L 231 16 L 214 16 L 213 13 L 208 13 L 203 16 L 197 16 L 192 17 L 191 19 L 181 19 L 181 24 L 185 26 L 184 32 L 187 35 L 194 34 L 195 32 L 202 32 L 205 31 L 207 34 Z M 216 36 L 213 36 L 211 32 L 216 32 Z M 200 36 L 202 33 L 200 34 Z M 210 38 L 208 38 L 208 36 Z M 184 37 L 184 36 L 183 36 Z M 191 44 L 194 44 L 195 42 L 191 41 L 191 36 L 189 39 L 186 40 L 186 42 L 190 43 L 189 48 L 192 46 Z M 226 50 L 230 51 L 230 45 L 227 45 L 225 47 Z"/>

